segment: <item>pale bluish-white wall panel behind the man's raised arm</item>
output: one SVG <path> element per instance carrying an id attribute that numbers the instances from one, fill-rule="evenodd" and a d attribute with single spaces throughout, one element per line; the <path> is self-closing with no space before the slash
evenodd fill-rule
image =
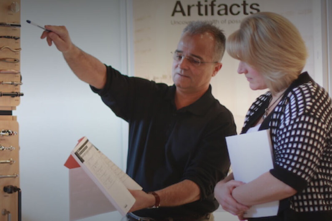
<path id="1" fill-rule="evenodd" d="M 121 0 L 22 0 L 21 86 L 13 115 L 20 125 L 22 220 L 69 220 L 68 169 L 63 166 L 77 140 L 87 136 L 123 165 L 122 120 L 78 80 L 41 29 L 26 23 L 65 25 L 72 41 L 121 70 Z M 125 42 L 124 42 L 125 45 Z M 86 220 L 120 220 L 118 212 Z"/>

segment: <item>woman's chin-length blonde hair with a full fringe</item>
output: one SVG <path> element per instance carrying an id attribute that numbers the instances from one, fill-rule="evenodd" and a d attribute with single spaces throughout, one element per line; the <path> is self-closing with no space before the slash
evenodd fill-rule
<path id="1" fill-rule="evenodd" d="M 226 41 L 228 54 L 259 71 L 272 93 L 297 79 L 307 59 L 298 29 L 285 17 L 259 12 L 243 19 Z"/>

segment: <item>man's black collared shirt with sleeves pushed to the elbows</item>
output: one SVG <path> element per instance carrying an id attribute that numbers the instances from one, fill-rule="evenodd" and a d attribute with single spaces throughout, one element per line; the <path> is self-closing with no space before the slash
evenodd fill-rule
<path id="1" fill-rule="evenodd" d="M 211 94 L 176 110 L 175 85 L 121 75 L 107 67 L 107 83 L 92 88 L 113 112 L 129 123 L 127 174 L 145 192 L 183 180 L 195 182 L 201 199 L 177 207 L 143 209 L 135 214 L 164 218 L 202 215 L 218 207 L 215 184 L 230 165 L 225 136 L 236 134 L 233 116 Z"/>

